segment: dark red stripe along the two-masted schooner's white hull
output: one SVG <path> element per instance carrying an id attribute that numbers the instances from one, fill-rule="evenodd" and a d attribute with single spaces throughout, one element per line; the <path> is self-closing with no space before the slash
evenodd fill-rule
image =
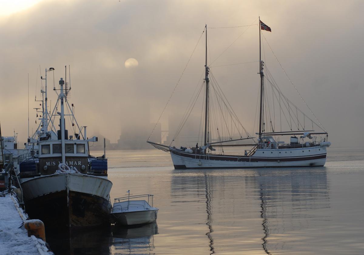
<path id="1" fill-rule="evenodd" d="M 201 159 L 201 160 L 219 160 L 219 161 L 239 161 L 239 162 L 292 162 L 292 161 L 307 161 L 307 160 L 317 160 L 326 158 L 326 153 L 324 154 L 317 154 L 312 156 L 299 156 L 299 157 L 245 157 L 245 156 L 232 156 L 232 155 L 213 155 L 211 154 L 209 157 L 201 156 L 199 157 L 198 154 L 192 153 L 184 153 L 184 152 L 177 152 L 170 149 L 170 152 L 186 157 L 186 158 L 193 158 L 193 159 Z"/>

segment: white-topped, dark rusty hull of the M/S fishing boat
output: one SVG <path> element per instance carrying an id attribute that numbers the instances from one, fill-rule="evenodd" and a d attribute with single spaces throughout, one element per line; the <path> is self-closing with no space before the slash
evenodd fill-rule
<path id="1" fill-rule="evenodd" d="M 29 217 L 46 228 L 85 228 L 107 225 L 111 181 L 83 174 L 36 177 L 21 184 Z"/>

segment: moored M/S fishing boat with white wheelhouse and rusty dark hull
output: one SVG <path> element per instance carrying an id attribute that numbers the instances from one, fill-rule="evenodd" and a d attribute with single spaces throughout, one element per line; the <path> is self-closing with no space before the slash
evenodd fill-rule
<path id="1" fill-rule="evenodd" d="M 46 73 L 54 70 L 50 68 Z M 58 99 L 52 114 L 47 110 L 47 94 L 39 129 L 28 139 L 28 153 L 20 156 L 20 177 L 25 210 L 29 217 L 44 222 L 46 228 L 68 229 L 107 225 L 111 211 L 111 181 L 107 180 L 107 159 L 90 156 L 86 127 L 79 127 L 67 101 L 70 85 L 61 78 Z M 47 93 L 47 83 L 45 90 Z M 67 107 L 68 114 L 65 114 Z M 60 107 L 60 112 L 57 109 Z M 65 116 L 72 121 L 74 136 L 68 136 Z M 59 129 L 55 129 L 59 118 Z M 78 131 L 76 131 L 76 128 Z M 49 128 L 49 129 L 48 129 Z M 36 145 L 37 149 L 34 149 Z"/>

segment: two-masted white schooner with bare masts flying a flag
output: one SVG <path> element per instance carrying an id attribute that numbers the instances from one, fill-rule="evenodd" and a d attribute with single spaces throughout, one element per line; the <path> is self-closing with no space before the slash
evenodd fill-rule
<path id="1" fill-rule="evenodd" d="M 258 105 L 258 132 L 257 136 L 249 136 L 245 128 L 242 127 L 246 133 L 246 137 L 243 137 L 239 133 L 239 137 L 234 139 L 230 132 L 226 136 L 221 135 L 221 126 L 228 126 L 225 118 L 221 118 L 221 125 L 215 125 L 214 129 L 211 127 L 211 122 L 217 124 L 216 119 L 210 120 L 214 117 L 211 108 L 226 107 L 226 113 L 229 113 L 231 117 L 236 117 L 231 123 L 231 126 L 235 128 L 241 122 L 237 119 L 236 114 L 230 108 L 229 103 L 222 103 L 226 99 L 219 87 L 211 89 L 210 86 L 210 68 L 207 65 L 207 26 L 205 26 L 206 36 L 206 56 L 205 56 L 205 98 L 204 98 L 204 130 L 203 130 L 203 146 L 194 146 L 189 149 L 186 147 L 176 147 L 164 144 L 158 144 L 148 141 L 155 148 L 170 152 L 173 165 L 175 169 L 189 169 L 189 168 L 255 168 L 255 167 L 293 167 L 293 166 L 323 166 L 326 162 L 327 147 L 331 145 L 328 142 L 328 132 L 323 128 L 316 116 L 312 113 L 316 121 L 313 121 L 303 111 L 299 110 L 288 98 L 286 98 L 282 91 L 279 89 L 277 83 L 272 78 L 270 72 L 267 70 L 267 75 L 264 73 L 266 69 L 264 61 L 262 61 L 261 51 L 261 35 L 262 30 L 271 32 L 271 28 L 264 24 L 259 18 L 259 75 L 260 75 L 260 95 Z M 274 53 L 273 53 L 274 54 Z M 215 78 L 212 76 L 212 80 Z M 271 90 L 267 89 L 267 84 L 271 86 Z M 292 83 L 293 85 L 293 83 Z M 294 86 L 294 85 L 293 85 Z M 296 89 L 296 87 L 294 86 Z M 211 92 L 215 91 L 215 97 L 217 98 L 216 105 L 213 105 L 211 101 Z M 271 91 L 272 98 L 268 98 L 267 93 Z M 296 92 L 298 93 L 297 89 Z M 299 93 L 298 93 L 299 94 Z M 300 95 L 300 94 L 299 94 Z M 301 97 L 301 96 L 300 96 Z M 197 98 L 197 97 L 196 97 Z M 303 100 L 303 98 L 301 97 Z M 195 100 L 195 99 L 194 99 Z M 197 100 L 197 99 L 196 99 Z M 276 100 L 276 101 L 274 101 Z M 278 103 L 279 101 L 279 103 Z M 193 101 L 194 103 L 195 101 Z M 280 113 L 280 121 L 285 119 L 288 123 L 289 131 L 277 131 L 273 125 L 273 117 L 276 118 L 274 110 L 270 110 L 269 106 L 274 108 L 276 102 L 276 108 L 286 111 L 286 113 Z M 305 105 L 306 102 L 304 101 Z M 218 106 L 217 106 L 218 105 Z M 221 106 L 222 105 L 222 106 Z M 279 107 L 278 107 L 279 105 Z M 187 111 L 189 114 L 190 111 Z M 283 115 L 283 117 L 282 117 Z M 188 117 L 188 116 L 187 116 Z M 303 120 L 301 119 L 303 118 Z M 306 125 L 305 122 L 312 123 L 312 126 Z M 185 123 L 185 122 L 184 122 Z M 268 125 L 267 125 L 267 124 Z M 242 126 L 242 125 L 241 125 Z M 316 132 L 314 127 L 318 127 L 320 132 Z M 296 129 L 296 130 L 295 130 Z M 284 129 L 283 129 L 284 130 Z M 211 134 L 215 132 L 217 138 L 213 140 Z M 289 142 L 280 141 L 280 137 L 289 137 Z M 251 144 L 234 144 L 236 141 L 251 140 Z M 223 153 L 224 146 L 251 146 L 250 149 L 245 149 L 241 155 L 226 155 Z M 219 153 L 215 148 L 220 148 Z M 221 153 L 222 152 L 222 153 Z"/>

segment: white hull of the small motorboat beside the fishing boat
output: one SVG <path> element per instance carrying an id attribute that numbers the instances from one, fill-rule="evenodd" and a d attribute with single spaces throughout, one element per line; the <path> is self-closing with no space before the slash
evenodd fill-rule
<path id="1" fill-rule="evenodd" d="M 117 224 L 120 225 L 141 225 L 155 222 L 157 220 L 157 210 L 132 211 L 112 213 Z"/>

